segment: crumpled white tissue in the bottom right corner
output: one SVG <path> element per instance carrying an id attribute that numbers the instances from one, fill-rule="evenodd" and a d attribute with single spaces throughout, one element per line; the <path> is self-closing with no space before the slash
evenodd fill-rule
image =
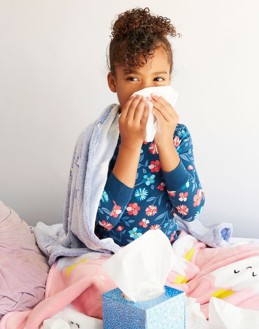
<path id="1" fill-rule="evenodd" d="M 259 328 L 259 311 L 237 307 L 222 299 L 211 297 L 209 323 L 211 329 Z"/>

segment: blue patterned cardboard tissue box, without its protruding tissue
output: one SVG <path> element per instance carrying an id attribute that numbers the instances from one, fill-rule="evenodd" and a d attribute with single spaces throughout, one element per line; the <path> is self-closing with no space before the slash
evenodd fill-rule
<path id="1" fill-rule="evenodd" d="M 185 329 L 185 291 L 164 288 L 162 295 L 135 303 L 119 288 L 103 293 L 103 329 Z"/>

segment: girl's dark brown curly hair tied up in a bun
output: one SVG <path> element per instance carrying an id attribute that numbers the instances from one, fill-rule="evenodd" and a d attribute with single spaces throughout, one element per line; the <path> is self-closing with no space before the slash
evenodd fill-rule
<path id="1" fill-rule="evenodd" d="M 107 57 L 107 49 L 106 59 L 108 69 L 115 79 L 116 66 L 124 63 L 124 74 L 135 71 L 137 68 L 143 67 L 149 58 L 152 59 L 155 49 L 159 47 L 162 47 L 167 53 L 171 76 L 173 70 L 173 50 L 166 36 L 170 35 L 175 38 L 176 30 L 170 24 L 169 18 L 152 16 L 148 7 L 144 9 L 134 8 L 119 14 L 111 29 L 112 36 L 110 36 L 110 46 L 108 45 L 109 59 Z M 178 35 L 179 38 L 182 36 L 179 33 Z M 141 61 L 142 55 L 145 62 Z"/>

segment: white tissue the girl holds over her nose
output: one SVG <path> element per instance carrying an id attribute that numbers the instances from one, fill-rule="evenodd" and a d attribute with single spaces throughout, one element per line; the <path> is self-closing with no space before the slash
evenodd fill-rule
<path id="1" fill-rule="evenodd" d="M 178 92 L 176 90 L 174 90 L 173 87 L 171 87 L 171 86 L 147 87 L 147 88 L 135 91 L 132 95 L 136 94 L 136 95 L 143 95 L 143 96 L 151 97 L 152 92 L 154 92 L 158 96 L 162 96 L 168 103 L 171 104 L 172 107 L 175 106 L 176 100 L 179 95 Z M 152 113 L 153 104 L 148 100 L 146 101 L 146 104 L 149 106 L 149 115 L 148 115 L 148 122 L 147 122 L 147 128 L 146 128 L 146 137 L 144 140 L 146 142 L 152 142 L 155 137 L 156 131 L 157 131 L 158 120 L 157 120 L 156 115 L 154 113 Z M 141 114 L 141 118 L 142 118 L 143 113 L 144 113 L 144 109 Z"/>

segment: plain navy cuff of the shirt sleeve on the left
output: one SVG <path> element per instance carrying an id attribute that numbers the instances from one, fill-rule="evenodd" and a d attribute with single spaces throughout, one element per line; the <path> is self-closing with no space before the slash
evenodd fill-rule
<path id="1" fill-rule="evenodd" d="M 128 204 L 133 190 L 134 187 L 130 188 L 129 186 L 123 184 L 117 177 L 114 176 L 113 172 L 111 172 L 105 185 L 105 191 L 108 193 L 110 198 L 120 206 Z"/>

